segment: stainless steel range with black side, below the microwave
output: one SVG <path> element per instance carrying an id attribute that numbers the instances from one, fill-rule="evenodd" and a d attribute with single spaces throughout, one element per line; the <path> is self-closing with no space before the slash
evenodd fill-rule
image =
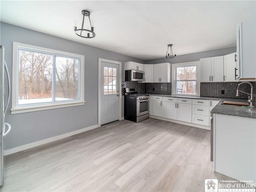
<path id="1" fill-rule="evenodd" d="M 125 88 L 124 119 L 141 122 L 149 118 L 147 94 L 138 94 L 138 88 Z"/>

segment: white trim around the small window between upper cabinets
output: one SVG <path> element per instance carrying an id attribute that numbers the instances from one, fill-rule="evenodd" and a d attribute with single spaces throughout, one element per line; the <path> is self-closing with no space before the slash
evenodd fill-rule
<path id="1" fill-rule="evenodd" d="M 177 66 L 196 66 L 196 94 L 176 94 L 175 93 L 175 67 Z M 172 95 L 182 95 L 182 96 L 200 96 L 200 83 L 201 83 L 201 77 L 200 77 L 200 61 L 193 61 L 193 62 L 185 62 L 185 63 L 175 63 L 172 64 Z"/>

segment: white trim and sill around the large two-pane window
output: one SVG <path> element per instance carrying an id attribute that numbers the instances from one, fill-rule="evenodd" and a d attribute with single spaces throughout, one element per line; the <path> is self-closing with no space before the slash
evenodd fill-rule
<path id="1" fill-rule="evenodd" d="M 58 102 L 53 104 L 39 104 L 38 106 L 18 106 L 17 103 L 17 93 L 18 93 L 18 48 L 27 48 L 32 50 L 38 50 L 43 52 L 49 52 L 51 54 L 61 54 L 65 56 L 71 57 L 78 57 L 81 58 L 81 70 L 80 70 L 80 100 L 73 101 L 73 102 Z M 84 105 L 84 55 L 74 54 L 49 48 L 43 48 L 18 42 L 13 42 L 13 53 L 12 53 L 12 109 L 11 114 L 18 114 L 18 113 L 26 113 L 26 112 L 34 112 L 34 111 L 41 111 L 41 110 L 49 110 L 49 109 L 56 109 L 56 108 L 63 108 L 63 107 L 71 107 L 71 106 L 79 106 Z"/>

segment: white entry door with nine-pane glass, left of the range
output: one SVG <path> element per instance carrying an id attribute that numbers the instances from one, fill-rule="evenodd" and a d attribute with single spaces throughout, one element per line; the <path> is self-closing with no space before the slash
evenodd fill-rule
<path id="1" fill-rule="evenodd" d="M 119 120 L 119 65 L 101 63 L 101 124 Z"/>

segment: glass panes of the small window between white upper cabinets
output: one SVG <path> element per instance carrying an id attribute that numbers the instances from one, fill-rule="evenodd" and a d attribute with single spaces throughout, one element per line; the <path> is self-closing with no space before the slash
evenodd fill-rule
<path id="1" fill-rule="evenodd" d="M 196 94 L 196 66 L 176 67 L 176 93 Z"/>

